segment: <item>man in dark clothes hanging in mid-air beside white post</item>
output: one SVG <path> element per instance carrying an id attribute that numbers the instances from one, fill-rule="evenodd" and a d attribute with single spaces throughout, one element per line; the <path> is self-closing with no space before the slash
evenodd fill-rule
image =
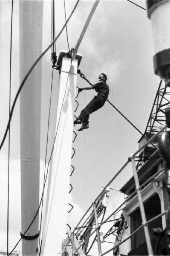
<path id="1" fill-rule="evenodd" d="M 84 78 L 89 84 L 89 80 L 85 78 L 85 76 L 81 73 L 79 70 L 78 72 L 82 78 Z M 107 100 L 108 94 L 109 94 L 109 86 L 106 84 L 107 76 L 104 73 L 101 73 L 98 77 L 99 82 L 97 84 L 94 84 L 89 87 L 84 88 L 78 88 L 78 92 L 80 93 L 82 90 L 91 90 L 95 89 L 95 91 L 98 93 L 97 96 L 95 96 L 88 105 L 81 111 L 78 118 L 74 121 L 74 124 L 81 124 L 81 128 L 78 129 L 78 131 L 82 131 L 84 129 L 89 128 L 89 114 L 95 112 L 99 108 L 103 107 L 104 103 Z"/>

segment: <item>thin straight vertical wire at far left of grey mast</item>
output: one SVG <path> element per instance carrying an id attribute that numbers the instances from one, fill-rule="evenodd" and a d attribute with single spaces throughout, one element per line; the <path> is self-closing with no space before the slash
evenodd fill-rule
<path id="1" fill-rule="evenodd" d="M 12 6 L 11 6 L 11 38 L 10 38 L 10 64 L 9 64 L 9 116 L 10 116 L 10 109 L 11 109 L 12 21 L 13 21 L 13 0 L 12 0 Z M 10 162 L 10 125 L 9 125 L 9 140 L 8 140 L 7 256 L 9 255 L 9 162 Z"/>

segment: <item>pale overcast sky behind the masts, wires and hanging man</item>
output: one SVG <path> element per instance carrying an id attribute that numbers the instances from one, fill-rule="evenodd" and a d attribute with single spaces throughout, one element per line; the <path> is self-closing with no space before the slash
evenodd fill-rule
<path id="1" fill-rule="evenodd" d="M 70 14 L 76 1 L 66 0 L 66 15 Z M 145 8 L 144 0 L 134 0 Z M 55 1 L 56 35 L 64 24 L 63 1 Z M 68 24 L 69 47 L 75 47 L 94 1 L 81 0 Z M 9 49 L 11 1 L 0 3 L 0 139 L 8 120 L 9 108 Z M 12 44 L 12 99 L 19 87 L 19 15 L 18 2 L 14 0 L 13 44 Z M 44 1 L 43 49 L 51 43 L 51 1 Z M 56 42 L 57 55 L 68 50 L 66 31 Z M 80 69 L 92 82 L 98 81 L 99 73 L 106 73 L 110 88 L 109 100 L 141 132 L 144 132 L 158 88 L 159 78 L 153 72 L 153 39 L 151 23 L 146 11 L 127 0 L 101 0 L 95 11 L 84 39 L 79 47 L 82 55 Z M 43 57 L 42 70 L 42 119 L 41 119 L 41 172 L 43 173 L 46 131 L 49 108 L 50 81 L 52 73 L 51 50 Z M 58 86 L 58 71 L 55 71 L 55 86 Z M 79 87 L 88 86 L 78 77 Z M 93 90 L 83 91 L 78 96 L 78 116 L 82 108 L 95 95 Z M 55 99 L 55 98 L 54 98 Z M 53 107 L 55 101 L 53 101 Z M 51 121 L 53 122 L 53 121 Z M 79 126 L 75 126 L 75 131 Z M 11 123 L 10 159 L 10 247 L 20 233 L 20 138 L 19 105 L 17 102 Z M 74 142 L 75 156 L 72 165 L 73 185 L 70 200 L 75 208 L 69 217 L 74 227 L 78 218 L 127 158 L 138 149 L 141 135 L 112 106 L 106 102 L 103 108 L 92 113 L 89 129 L 78 132 Z M 0 247 L 6 246 L 6 201 L 7 201 L 7 152 L 8 140 L 0 152 Z M 112 183 L 120 189 L 131 177 L 127 169 Z M 109 209 L 123 200 L 124 195 L 110 192 Z M 2 235 L 2 236 L 1 236 Z M 19 247 L 20 248 L 20 245 Z"/>

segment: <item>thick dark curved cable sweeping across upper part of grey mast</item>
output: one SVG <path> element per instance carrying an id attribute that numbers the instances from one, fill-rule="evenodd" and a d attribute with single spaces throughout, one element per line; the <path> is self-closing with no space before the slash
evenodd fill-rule
<path id="1" fill-rule="evenodd" d="M 35 66 L 36 66 L 37 63 L 40 61 L 40 59 L 43 57 L 43 55 L 50 49 L 50 47 L 52 46 L 52 44 L 55 43 L 55 41 L 59 38 L 59 36 L 60 36 L 61 33 L 63 32 L 63 29 L 65 28 L 65 26 L 66 26 L 66 24 L 68 23 L 69 19 L 72 17 L 72 15 L 73 15 L 73 13 L 74 13 L 74 11 L 75 11 L 75 9 L 76 9 L 76 7 L 77 7 L 79 1 L 80 1 L 80 0 L 77 0 L 77 2 L 76 2 L 76 4 L 75 4 L 75 6 L 74 6 L 74 8 L 73 8 L 73 10 L 72 10 L 72 12 L 71 12 L 71 14 L 69 15 L 68 19 L 66 20 L 66 23 L 63 25 L 61 31 L 58 33 L 57 37 L 56 37 L 56 38 L 52 41 L 52 43 L 49 44 L 49 46 L 40 54 L 40 56 L 39 56 L 39 57 L 37 58 L 37 60 L 32 64 L 32 66 L 30 67 L 30 69 L 29 69 L 28 72 L 26 73 L 26 76 L 24 77 L 23 81 L 21 82 L 20 87 L 19 87 L 19 89 L 18 89 L 18 91 L 17 91 L 17 93 L 16 93 L 16 96 L 15 96 L 15 98 L 14 98 L 14 102 L 13 102 L 13 104 L 12 104 L 12 108 L 11 108 L 10 115 L 9 115 L 9 121 L 8 121 L 7 126 L 6 126 L 6 131 L 5 131 L 4 135 L 3 135 L 2 141 L 1 141 L 1 143 L 0 143 L 0 150 L 1 150 L 1 148 L 2 148 L 2 146 L 3 146 L 3 143 L 4 143 L 5 139 L 6 139 L 7 132 L 9 131 L 9 125 L 10 125 L 10 122 L 11 122 L 11 119 L 12 119 L 12 114 L 13 114 L 13 111 L 14 111 L 14 107 L 15 107 L 15 104 L 16 104 L 16 102 L 17 102 L 17 98 L 18 98 L 18 96 L 19 96 L 19 94 L 20 94 L 20 91 L 21 91 L 22 88 L 23 88 L 23 85 L 25 84 L 25 82 L 26 82 L 27 78 L 29 77 L 30 73 L 31 73 L 32 70 L 35 68 Z"/>

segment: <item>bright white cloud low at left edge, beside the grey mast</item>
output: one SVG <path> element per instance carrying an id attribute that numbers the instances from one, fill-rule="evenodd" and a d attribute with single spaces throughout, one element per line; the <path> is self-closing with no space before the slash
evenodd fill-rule
<path id="1" fill-rule="evenodd" d="M 8 156 L 0 154 L 0 246 L 7 241 Z M 10 158 L 9 172 L 9 247 L 20 239 L 20 160 Z"/>

